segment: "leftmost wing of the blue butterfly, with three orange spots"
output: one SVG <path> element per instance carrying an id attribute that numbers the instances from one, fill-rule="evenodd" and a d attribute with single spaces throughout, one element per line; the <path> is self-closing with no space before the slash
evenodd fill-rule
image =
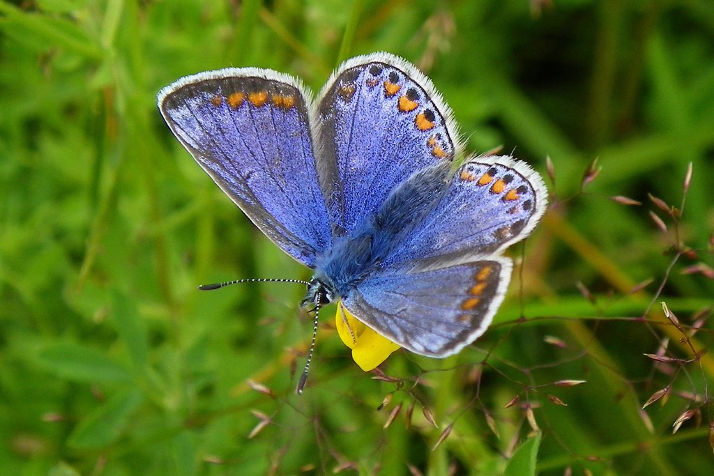
<path id="1" fill-rule="evenodd" d="M 162 89 L 176 138 L 258 228 L 310 267 L 331 240 L 318 183 L 311 100 L 291 76 L 221 69 Z"/>

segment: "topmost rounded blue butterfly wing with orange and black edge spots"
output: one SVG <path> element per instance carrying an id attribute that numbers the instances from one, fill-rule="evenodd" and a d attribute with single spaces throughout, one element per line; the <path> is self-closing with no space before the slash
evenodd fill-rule
<path id="1" fill-rule="evenodd" d="M 441 95 L 413 65 L 386 53 L 343 64 L 318 99 L 323 192 L 335 236 L 350 235 L 412 173 L 460 148 Z"/>

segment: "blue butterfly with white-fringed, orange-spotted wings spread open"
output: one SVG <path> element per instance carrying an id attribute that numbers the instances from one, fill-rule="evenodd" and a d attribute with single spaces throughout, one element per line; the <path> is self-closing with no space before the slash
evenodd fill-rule
<path id="1" fill-rule="evenodd" d="M 349 59 L 313 101 L 268 69 L 187 76 L 159 92 L 178 141 L 281 250 L 313 270 L 303 303 L 341 300 L 413 353 L 483 334 L 543 216 L 543 179 L 511 156 L 463 156 L 430 79 L 387 53 Z M 313 336 L 314 338 L 314 336 Z"/>

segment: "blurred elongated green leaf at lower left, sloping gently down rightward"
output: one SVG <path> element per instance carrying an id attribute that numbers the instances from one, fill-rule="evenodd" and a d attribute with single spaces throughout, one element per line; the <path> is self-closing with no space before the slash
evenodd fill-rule
<path id="1" fill-rule="evenodd" d="M 131 374 L 99 350 L 74 343 L 60 343 L 39 355 L 40 363 L 50 373 L 66 380 L 86 383 L 129 382 Z"/>

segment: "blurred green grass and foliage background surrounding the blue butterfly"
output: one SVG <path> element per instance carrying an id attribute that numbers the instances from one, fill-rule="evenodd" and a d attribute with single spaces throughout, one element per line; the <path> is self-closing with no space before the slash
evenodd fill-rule
<path id="1" fill-rule="evenodd" d="M 155 97 L 372 51 L 552 204 L 483 338 L 363 373 L 326 308 L 298 396 L 303 287 L 196 285 L 310 272 Z M 711 474 L 713 157 L 709 0 L 0 1 L 0 472 Z"/>

